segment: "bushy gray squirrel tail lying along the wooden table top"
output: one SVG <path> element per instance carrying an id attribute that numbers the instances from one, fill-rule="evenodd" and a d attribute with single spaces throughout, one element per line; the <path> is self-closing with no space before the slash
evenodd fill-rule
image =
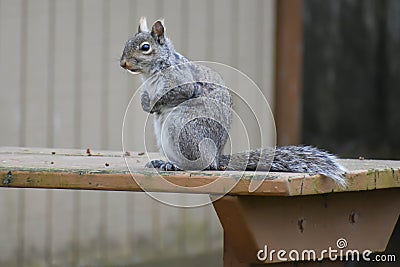
<path id="1" fill-rule="evenodd" d="M 220 166 L 227 170 L 276 171 L 322 174 L 346 186 L 346 169 L 336 157 L 312 146 L 283 146 L 222 155 Z"/>

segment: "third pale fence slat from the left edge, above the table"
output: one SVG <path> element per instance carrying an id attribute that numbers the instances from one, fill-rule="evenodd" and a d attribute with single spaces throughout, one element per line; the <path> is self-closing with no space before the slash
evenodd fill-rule
<path id="1" fill-rule="evenodd" d="M 77 147 L 79 143 L 77 140 L 79 123 L 75 118 L 80 105 L 77 105 L 75 94 L 80 90 L 81 25 L 78 25 L 82 21 L 77 4 L 82 1 L 49 1 L 55 5 L 54 114 L 49 115 L 54 119 L 53 145 L 72 148 Z"/>

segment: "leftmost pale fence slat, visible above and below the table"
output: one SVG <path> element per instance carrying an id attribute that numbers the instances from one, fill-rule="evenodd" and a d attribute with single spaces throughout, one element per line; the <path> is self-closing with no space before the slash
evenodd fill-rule
<path id="1" fill-rule="evenodd" d="M 0 38 L 0 113 L 3 131 L 1 145 L 20 145 L 21 139 L 21 110 L 20 101 L 20 77 L 21 68 L 21 1 L 1 1 L 0 8 L 0 33 L 7 38 Z M 0 237 L 0 263 L 4 265 L 17 265 L 21 260 L 15 255 L 21 248 L 19 236 L 20 216 L 23 214 L 19 207 L 20 193 L 17 190 L 1 190 L 4 202 L 0 208 L 0 221 L 7 225 L 7 231 L 2 231 Z M 4 223 L 4 224 L 3 224 Z"/>

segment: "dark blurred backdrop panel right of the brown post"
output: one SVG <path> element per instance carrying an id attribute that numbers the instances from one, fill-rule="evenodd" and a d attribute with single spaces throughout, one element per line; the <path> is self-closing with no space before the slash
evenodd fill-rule
<path id="1" fill-rule="evenodd" d="M 303 142 L 400 159 L 400 2 L 306 0 Z"/>

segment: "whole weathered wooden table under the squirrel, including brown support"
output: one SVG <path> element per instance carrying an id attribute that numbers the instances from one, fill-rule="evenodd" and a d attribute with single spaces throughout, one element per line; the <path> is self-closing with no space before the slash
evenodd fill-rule
<path id="1" fill-rule="evenodd" d="M 209 194 L 224 229 L 224 266 L 295 266 L 310 250 L 324 260 L 296 264 L 344 266 L 322 252 L 385 251 L 399 221 L 400 161 L 340 160 L 349 170 L 340 188 L 321 175 L 157 172 L 144 168 L 148 160 L 132 151 L 0 147 L 0 186 Z"/>

